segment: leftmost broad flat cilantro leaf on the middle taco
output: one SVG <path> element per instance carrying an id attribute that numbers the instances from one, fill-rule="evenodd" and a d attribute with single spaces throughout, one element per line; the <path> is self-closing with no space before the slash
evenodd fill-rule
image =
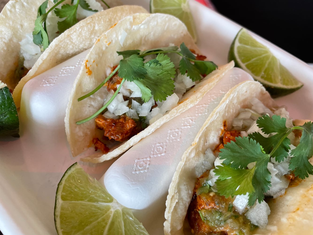
<path id="1" fill-rule="evenodd" d="M 143 66 L 143 59 L 139 55 L 131 55 L 126 59 L 120 60 L 119 77 L 125 78 L 127 81 L 134 81 L 134 79 L 145 78 L 146 74 L 147 70 Z"/>

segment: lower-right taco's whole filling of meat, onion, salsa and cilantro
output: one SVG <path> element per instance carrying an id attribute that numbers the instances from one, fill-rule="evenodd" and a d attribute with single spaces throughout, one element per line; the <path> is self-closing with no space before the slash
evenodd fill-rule
<path id="1" fill-rule="evenodd" d="M 299 169 L 295 159 L 299 157 L 295 149 L 304 141 L 301 135 L 306 135 L 300 130 L 312 125 L 294 127 L 285 108 L 273 111 L 253 98 L 251 107 L 239 110 L 232 127 L 226 121 L 223 127 L 213 151 L 218 155 L 214 168 L 198 178 L 187 210 L 192 234 L 247 235 L 266 227 L 270 214 L 266 201 L 284 196 L 295 176 L 303 179 L 313 173 L 311 165 Z"/>

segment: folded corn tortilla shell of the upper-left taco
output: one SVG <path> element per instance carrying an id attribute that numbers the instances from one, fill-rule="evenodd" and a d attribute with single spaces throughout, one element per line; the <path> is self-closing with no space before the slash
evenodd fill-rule
<path id="1" fill-rule="evenodd" d="M 133 13 L 147 13 L 139 6 L 120 6 L 81 20 L 51 42 L 21 81 L 14 81 L 14 72 L 20 56 L 19 42 L 25 34 L 33 32 L 37 9 L 42 3 L 43 0 L 11 0 L 0 14 L 0 48 L 2 49 L 0 56 L 6 58 L 0 61 L 0 80 L 7 83 L 10 89 L 14 89 L 18 83 L 13 91 L 13 99 L 17 107 L 20 106 L 22 89 L 27 81 L 89 49 L 103 32 L 122 18 Z M 113 0 L 108 3 L 111 6 L 117 4 Z M 53 5 L 52 0 L 49 2 L 49 6 L 51 5 Z"/>

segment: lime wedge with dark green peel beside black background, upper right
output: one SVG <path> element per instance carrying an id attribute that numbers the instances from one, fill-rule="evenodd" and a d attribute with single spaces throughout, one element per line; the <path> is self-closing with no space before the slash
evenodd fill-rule
<path id="1" fill-rule="evenodd" d="M 298 81 L 270 50 L 241 29 L 230 47 L 228 60 L 259 81 L 273 97 L 290 94 L 303 84 Z"/>

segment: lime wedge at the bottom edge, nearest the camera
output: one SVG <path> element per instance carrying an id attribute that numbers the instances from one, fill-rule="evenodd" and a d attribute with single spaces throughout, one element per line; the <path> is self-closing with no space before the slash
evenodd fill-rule
<path id="1" fill-rule="evenodd" d="M 121 206 L 77 163 L 58 184 L 54 222 L 59 235 L 148 234 L 131 210 Z"/>

